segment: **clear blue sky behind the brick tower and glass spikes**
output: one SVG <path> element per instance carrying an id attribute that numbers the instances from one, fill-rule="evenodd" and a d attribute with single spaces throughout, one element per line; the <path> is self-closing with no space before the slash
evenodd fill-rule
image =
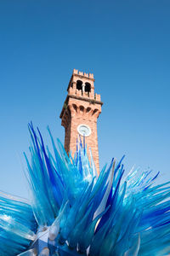
<path id="1" fill-rule="evenodd" d="M 0 190 L 29 197 L 32 121 L 64 142 L 59 113 L 73 68 L 104 102 L 100 166 L 111 158 L 170 180 L 170 1 L 0 1 Z"/>

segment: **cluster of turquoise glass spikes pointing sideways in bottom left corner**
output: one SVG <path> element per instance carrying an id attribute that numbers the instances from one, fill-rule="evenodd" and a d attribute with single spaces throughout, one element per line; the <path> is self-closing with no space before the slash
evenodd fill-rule
<path id="1" fill-rule="evenodd" d="M 35 239 L 37 224 L 31 206 L 21 198 L 0 194 L 0 253 L 22 253 Z"/>

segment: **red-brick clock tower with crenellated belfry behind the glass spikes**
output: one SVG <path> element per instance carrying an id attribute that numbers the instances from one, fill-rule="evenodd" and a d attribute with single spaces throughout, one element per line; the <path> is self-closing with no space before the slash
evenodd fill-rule
<path id="1" fill-rule="evenodd" d="M 65 150 L 72 155 L 77 150 L 77 138 L 85 136 L 88 147 L 92 150 L 94 164 L 99 173 L 99 149 L 97 119 L 101 113 L 100 95 L 94 94 L 94 74 L 73 70 L 67 88 L 63 109 L 60 113 L 61 125 L 65 127 Z"/>

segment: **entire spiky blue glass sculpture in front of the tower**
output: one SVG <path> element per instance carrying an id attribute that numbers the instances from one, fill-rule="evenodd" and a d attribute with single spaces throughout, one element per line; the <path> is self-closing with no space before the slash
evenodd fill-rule
<path id="1" fill-rule="evenodd" d="M 161 256 L 170 253 L 170 182 L 113 159 L 99 177 L 85 139 L 74 158 L 48 129 L 54 149 L 33 125 L 27 179 L 31 201 L 0 195 L 2 256 Z"/>

